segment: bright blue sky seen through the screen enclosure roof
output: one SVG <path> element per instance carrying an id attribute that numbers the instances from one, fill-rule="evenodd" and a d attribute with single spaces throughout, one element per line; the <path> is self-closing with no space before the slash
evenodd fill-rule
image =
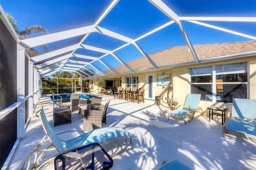
<path id="1" fill-rule="evenodd" d="M 5 12 L 12 14 L 23 30 L 33 25 L 43 26 L 50 33 L 60 32 L 94 24 L 111 4 L 111 0 L 0 0 Z M 178 16 L 240 16 L 256 17 L 256 0 L 163 0 Z M 120 0 L 112 11 L 100 22 L 99 26 L 136 39 L 155 28 L 170 22 L 164 15 L 147 0 Z M 256 36 L 256 23 L 234 22 L 204 22 L 233 31 Z M 193 45 L 206 43 L 226 43 L 251 41 L 226 32 L 206 28 L 191 22 L 183 22 L 184 28 Z M 35 35 L 38 36 L 38 35 Z M 78 43 L 82 36 L 48 44 L 49 50 Z M 125 43 L 120 40 L 92 33 L 84 44 L 108 50 L 116 49 Z M 146 53 L 156 52 L 172 46 L 186 45 L 186 42 L 176 24 L 172 24 L 142 40 L 138 44 Z M 42 48 L 38 51 L 44 53 Z M 76 53 L 100 57 L 103 54 L 77 50 Z M 133 45 L 128 45 L 116 51 L 125 62 L 131 61 L 142 54 Z M 111 67 L 120 65 L 112 56 L 102 58 Z M 94 64 L 104 71 L 100 62 Z"/>

